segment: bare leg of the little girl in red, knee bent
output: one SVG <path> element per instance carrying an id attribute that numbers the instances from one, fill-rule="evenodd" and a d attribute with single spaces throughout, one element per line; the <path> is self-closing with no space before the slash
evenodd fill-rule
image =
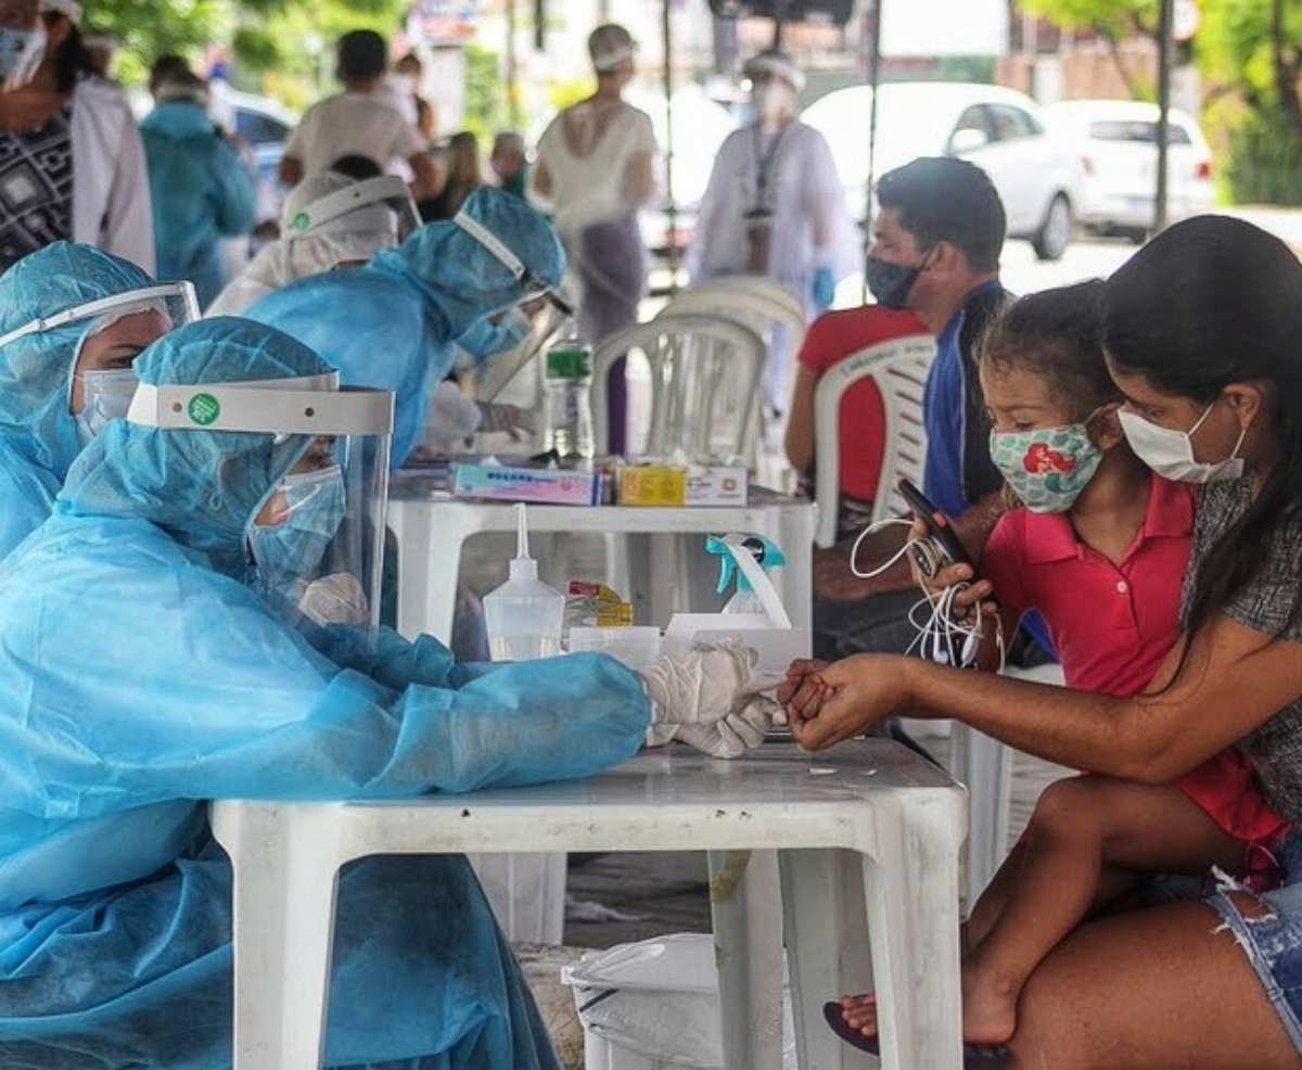
<path id="1" fill-rule="evenodd" d="M 1234 868 L 1243 850 L 1177 788 L 1092 776 L 1046 790 L 1025 849 L 1021 880 L 963 972 L 963 1035 L 975 1043 L 1001 1044 L 1013 1035 L 1031 971 L 1100 890 L 1115 896 L 1134 873 Z"/>

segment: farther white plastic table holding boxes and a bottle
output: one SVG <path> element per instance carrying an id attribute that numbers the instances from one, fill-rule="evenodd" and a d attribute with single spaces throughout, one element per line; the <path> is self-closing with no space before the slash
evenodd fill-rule
<path id="1" fill-rule="evenodd" d="M 745 531 L 764 535 L 783 548 L 788 564 L 773 582 L 794 627 L 814 621 L 814 530 L 816 506 L 810 501 L 756 491 L 751 504 L 736 508 L 641 508 L 605 505 L 530 505 L 533 531 L 608 535 L 700 535 Z M 514 505 L 435 495 L 428 484 L 398 480 L 389 497 L 388 523 L 398 543 L 398 631 L 414 639 L 427 634 L 450 643 L 461 549 L 471 535 L 514 531 Z M 650 607 L 646 624 L 668 624 L 673 608 L 690 604 L 684 584 L 693 574 L 682 568 L 673 539 L 637 540 L 630 552 L 628 588 L 634 604 Z M 704 558 L 704 547 L 699 555 Z M 700 562 L 698 562 L 700 564 Z"/>

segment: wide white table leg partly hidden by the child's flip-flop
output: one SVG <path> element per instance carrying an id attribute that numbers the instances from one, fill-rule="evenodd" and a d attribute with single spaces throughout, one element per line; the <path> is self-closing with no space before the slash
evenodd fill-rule
<path id="1" fill-rule="evenodd" d="M 863 863 L 853 851 L 802 850 L 779 855 L 783 931 L 792 987 L 797 1066 L 870 1070 L 876 1066 L 823 1019 L 823 1004 L 872 991 Z"/>

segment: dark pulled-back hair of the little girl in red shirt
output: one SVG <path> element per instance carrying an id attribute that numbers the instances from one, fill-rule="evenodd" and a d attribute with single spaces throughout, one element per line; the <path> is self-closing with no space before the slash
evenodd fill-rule
<path id="1" fill-rule="evenodd" d="M 978 359 L 1049 380 L 1074 419 L 1122 401 L 1103 359 L 1103 281 L 1027 294 L 1006 305 L 982 338 Z"/>

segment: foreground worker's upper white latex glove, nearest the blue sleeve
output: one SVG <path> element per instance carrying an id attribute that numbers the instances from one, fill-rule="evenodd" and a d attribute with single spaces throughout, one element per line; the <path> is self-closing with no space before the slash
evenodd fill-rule
<path id="1" fill-rule="evenodd" d="M 652 725 L 721 721 L 746 694 L 758 660 L 754 650 L 740 644 L 661 655 L 642 673 Z"/>

